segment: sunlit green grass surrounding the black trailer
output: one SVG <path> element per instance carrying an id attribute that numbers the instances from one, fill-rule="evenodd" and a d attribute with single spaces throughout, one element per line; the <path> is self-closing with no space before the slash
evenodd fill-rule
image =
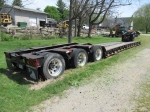
<path id="1" fill-rule="evenodd" d="M 40 90 L 29 90 L 32 83 L 24 80 L 23 72 L 10 72 L 6 68 L 4 51 L 17 50 L 18 48 L 29 48 L 33 46 L 47 46 L 52 44 L 67 43 L 67 39 L 53 39 L 53 40 L 21 40 L 21 41 L 8 41 L 0 42 L 0 109 L 2 112 L 10 111 L 26 111 L 29 107 L 39 104 L 40 102 L 52 97 L 53 95 L 62 94 L 66 89 L 71 86 L 79 86 L 85 79 L 91 79 L 92 74 L 96 70 L 104 70 L 113 64 L 122 62 L 134 54 L 149 47 L 149 38 L 141 36 L 137 38 L 142 42 L 140 47 L 135 47 L 111 58 L 103 59 L 100 62 L 89 63 L 83 68 L 70 69 L 69 72 L 63 74 L 62 80 L 58 78 L 56 82 L 42 88 Z M 93 38 L 74 38 L 73 42 L 78 43 L 105 43 L 120 41 L 120 38 L 106 38 L 106 37 L 93 37 Z M 103 75 L 102 73 L 97 76 Z"/>

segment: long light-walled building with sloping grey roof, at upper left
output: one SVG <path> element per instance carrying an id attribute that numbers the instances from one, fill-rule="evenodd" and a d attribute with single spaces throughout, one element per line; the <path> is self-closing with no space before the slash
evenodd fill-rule
<path id="1" fill-rule="evenodd" d="M 17 25 L 18 22 L 26 22 L 27 26 L 42 26 L 47 22 L 47 13 L 18 6 L 6 6 L 0 13 L 9 13 L 12 17 L 12 24 Z"/>

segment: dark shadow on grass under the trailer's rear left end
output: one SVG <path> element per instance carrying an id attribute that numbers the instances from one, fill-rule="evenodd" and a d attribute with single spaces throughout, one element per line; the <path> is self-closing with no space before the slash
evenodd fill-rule
<path id="1" fill-rule="evenodd" d="M 1 75 L 7 76 L 10 80 L 17 82 L 20 85 L 36 83 L 30 79 L 27 79 L 26 71 L 22 71 L 17 68 L 13 68 L 12 70 L 0 68 L 0 73 Z"/>

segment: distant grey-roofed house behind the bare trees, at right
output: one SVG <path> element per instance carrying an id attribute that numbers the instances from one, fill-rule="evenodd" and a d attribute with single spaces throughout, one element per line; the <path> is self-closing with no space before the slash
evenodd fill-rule
<path id="1" fill-rule="evenodd" d="M 111 18 L 103 21 L 100 24 L 101 28 L 112 28 L 115 25 L 124 26 L 127 29 L 133 29 L 133 20 L 132 17 L 122 17 L 122 18 Z"/>

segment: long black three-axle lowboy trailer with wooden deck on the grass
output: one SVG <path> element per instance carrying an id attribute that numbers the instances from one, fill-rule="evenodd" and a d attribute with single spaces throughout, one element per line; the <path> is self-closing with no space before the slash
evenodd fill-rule
<path id="1" fill-rule="evenodd" d="M 66 66 L 82 67 L 88 61 L 98 61 L 139 45 L 140 42 L 112 42 L 96 45 L 69 43 L 4 53 L 9 69 L 16 67 L 26 70 L 27 78 L 39 81 L 39 79 L 57 78 L 64 72 Z"/>

